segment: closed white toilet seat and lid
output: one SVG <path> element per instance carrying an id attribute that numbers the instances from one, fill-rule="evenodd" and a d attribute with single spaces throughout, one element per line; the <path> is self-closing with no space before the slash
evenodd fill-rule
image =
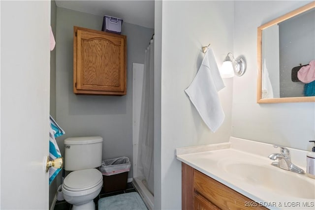
<path id="1" fill-rule="evenodd" d="M 102 173 L 97 169 L 85 169 L 71 172 L 63 180 L 63 188 L 68 191 L 85 191 L 102 184 Z"/>

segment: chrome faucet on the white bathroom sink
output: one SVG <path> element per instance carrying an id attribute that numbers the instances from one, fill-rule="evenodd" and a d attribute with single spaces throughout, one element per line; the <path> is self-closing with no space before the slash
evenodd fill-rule
<path id="1" fill-rule="evenodd" d="M 279 145 L 274 145 L 274 148 L 280 148 L 281 153 L 272 153 L 268 156 L 271 160 L 278 159 L 278 161 L 272 162 L 271 165 L 298 174 L 305 174 L 305 172 L 302 169 L 300 169 L 291 162 L 290 150 Z"/>

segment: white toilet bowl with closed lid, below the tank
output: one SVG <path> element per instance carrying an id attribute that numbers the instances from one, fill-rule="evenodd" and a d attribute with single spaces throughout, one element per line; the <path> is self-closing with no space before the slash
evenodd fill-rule
<path id="1" fill-rule="evenodd" d="M 103 184 L 102 174 L 96 169 L 71 172 L 63 180 L 63 197 L 73 205 L 73 210 L 95 210 L 93 199 Z"/>

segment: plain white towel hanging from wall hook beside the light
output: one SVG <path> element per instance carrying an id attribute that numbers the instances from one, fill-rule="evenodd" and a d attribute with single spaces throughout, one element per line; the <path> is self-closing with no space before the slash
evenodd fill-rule
<path id="1" fill-rule="evenodd" d="M 218 91 L 223 89 L 216 59 L 211 48 L 205 54 L 197 75 L 185 90 L 206 125 L 216 132 L 224 120 Z"/>

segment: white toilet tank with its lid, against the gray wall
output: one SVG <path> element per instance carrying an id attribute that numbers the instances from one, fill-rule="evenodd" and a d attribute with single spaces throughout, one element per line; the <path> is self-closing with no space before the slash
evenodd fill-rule
<path id="1" fill-rule="evenodd" d="M 76 171 L 96 168 L 102 164 L 103 138 L 74 137 L 64 140 L 64 169 Z"/>

